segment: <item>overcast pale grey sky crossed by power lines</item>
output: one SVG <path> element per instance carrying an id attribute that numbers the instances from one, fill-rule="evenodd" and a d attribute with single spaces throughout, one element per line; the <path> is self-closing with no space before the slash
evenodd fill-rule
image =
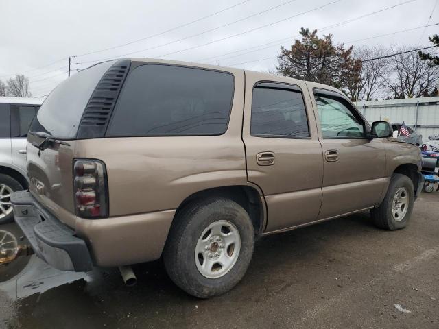
<path id="1" fill-rule="evenodd" d="M 351 19 L 356 20 L 324 29 L 320 35 L 333 33 L 335 42 L 354 46 L 428 46 L 431 45 L 428 36 L 439 33 L 439 25 L 427 27 L 425 31 L 414 28 L 427 25 L 428 21 L 439 23 L 439 3 L 434 8 L 436 1 L 439 2 L 1 0 L 0 79 L 7 80 L 11 73 L 24 73 L 31 81 L 33 95 L 46 95 L 67 77 L 69 56 L 139 39 L 144 40 L 72 58 L 72 63 L 86 63 L 71 67 L 82 69 L 95 60 L 115 57 L 146 57 L 268 71 L 274 68 L 281 45 L 291 45 L 300 27 L 322 29 Z M 357 19 L 399 3 L 404 4 Z M 202 19 L 205 16 L 209 17 Z M 251 17 L 246 19 L 248 16 Z M 187 24 L 195 20 L 198 21 Z M 235 21 L 238 22 L 233 23 Z M 162 33 L 169 29 L 171 31 Z M 404 29 L 413 30 L 370 38 Z M 240 35 L 235 36 L 237 34 Z M 365 38 L 370 39 L 361 40 Z M 352 42 L 355 40 L 361 41 Z M 47 64 L 50 65 L 45 66 Z"/>

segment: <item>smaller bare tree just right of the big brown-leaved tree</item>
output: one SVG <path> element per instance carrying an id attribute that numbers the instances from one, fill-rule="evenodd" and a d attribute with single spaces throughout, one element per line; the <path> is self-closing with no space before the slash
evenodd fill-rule
<path id="1" fill-rule="evenodd" d="M 354 48 L 354 57 L 361 60 L 361 71 L 358 84 L 349 91 L 349 97 L 358 101 L 369 101 L 377 96 L 383 84 L 383 77 L 388 74 L 389 60 L 381 58 L 388 51 L 383 47 L 359 46 Z M 378 58 L 377 60 L 371 60 Z"/>

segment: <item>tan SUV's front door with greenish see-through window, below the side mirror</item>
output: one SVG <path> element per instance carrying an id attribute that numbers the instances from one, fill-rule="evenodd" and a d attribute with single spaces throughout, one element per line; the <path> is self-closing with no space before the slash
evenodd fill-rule
<path id="1" fill-rule="evenodd" d="M 375 206 L 388 184 L 383 141 L 366 138 L 368 124 L 343 95 L 322 89 L 313 95 L 324 157 L 319 219 Z"/>

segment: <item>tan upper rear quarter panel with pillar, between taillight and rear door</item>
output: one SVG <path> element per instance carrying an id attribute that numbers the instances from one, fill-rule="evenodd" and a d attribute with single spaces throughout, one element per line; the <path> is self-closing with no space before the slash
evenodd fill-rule
<path id="1" fill-rule="evenodd" d="M 98 138 L 76 141 L 76 158 L 106 164 L 110 217 L 176 209 L 189 195 L 246 185 L 241 140 L 244 71 L 235 76 L 228 130 L 220 136 Z"/>

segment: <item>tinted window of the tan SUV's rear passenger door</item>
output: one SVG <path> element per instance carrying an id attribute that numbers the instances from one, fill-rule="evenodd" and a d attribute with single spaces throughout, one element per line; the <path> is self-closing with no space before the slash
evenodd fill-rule
<path id="1" fill-rule="evenodd" d="M 252 136 L 309 137 L 307 113 L 300 90 L 259 84 L 253 89 Z"/>

